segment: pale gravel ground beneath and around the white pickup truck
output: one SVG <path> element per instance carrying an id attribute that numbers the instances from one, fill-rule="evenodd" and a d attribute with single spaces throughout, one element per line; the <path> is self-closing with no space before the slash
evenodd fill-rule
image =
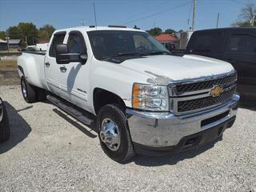
<path id="1" fill-rule="evenodd" d="M 256 192 L 256 107 L 240 108 L 222 140 L 122 165 L 102 152 L 94 130 L 50 103 L 27 104 L 19 86 L 1 86 L 0 93 L 11 126 L 0 145 L 1 191 Z"/>

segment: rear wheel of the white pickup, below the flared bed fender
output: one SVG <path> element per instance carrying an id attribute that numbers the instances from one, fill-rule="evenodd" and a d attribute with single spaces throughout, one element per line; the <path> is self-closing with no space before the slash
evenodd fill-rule
<path id="1" fill-rule="evenodd" d="M 30 85 L 26 82 L 24 76 L 21 79 L 22 95 L 26 102 L 32 103 L 37 102 L 37 87 Z"/>

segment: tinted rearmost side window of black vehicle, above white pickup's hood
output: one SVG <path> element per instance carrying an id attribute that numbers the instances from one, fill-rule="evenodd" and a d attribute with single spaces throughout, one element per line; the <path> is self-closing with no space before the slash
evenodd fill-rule
<path id="1" fill-rule="evenodd" d="M 188 47 L 189 53 L 217 53 L 222 40 L 222 32 L 197 33 Z"/>

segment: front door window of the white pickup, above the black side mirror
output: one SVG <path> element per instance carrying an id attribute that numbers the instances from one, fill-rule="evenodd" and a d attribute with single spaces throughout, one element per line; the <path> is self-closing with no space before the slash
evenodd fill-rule
<path id="1" fill-rule="evenodd" d="M 70 53 L 86 54 L 86 47 L 82 34 L 73 34 L 71 32 L 66 44 L 69 47 Z"/>

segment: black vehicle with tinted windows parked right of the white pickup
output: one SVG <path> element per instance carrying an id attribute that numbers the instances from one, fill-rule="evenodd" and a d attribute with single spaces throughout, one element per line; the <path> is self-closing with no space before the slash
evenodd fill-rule
<path id="1" fill-rule="evenodd" d="M 238 93 L 256 96 L 256 27 L 195 31 L 185 54 L 230 62 L 238 72 Z"/>

